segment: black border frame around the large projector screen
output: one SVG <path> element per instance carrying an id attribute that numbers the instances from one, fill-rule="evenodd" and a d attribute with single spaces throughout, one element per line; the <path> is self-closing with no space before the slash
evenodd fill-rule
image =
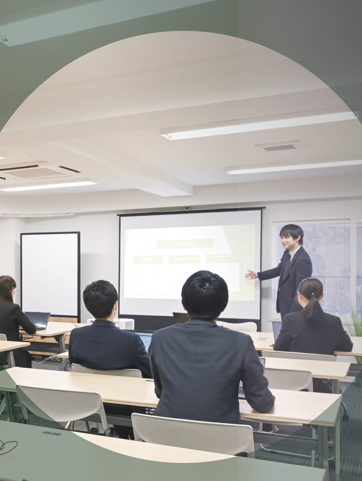
<path id="1" fill-rule="evenodd" d="M 120 259 L 121 259 L 121 218 L 122 217 L 139 217 L 139 216 L 149 216 L 149 215 L 187 215 L 187 214 L 206 214 L 214 212 L 237 212 L 237 211 L 260 211 L 260 268 L 261 268 L 261 246 L 262 246 L 262 228 L 263 228 L 263 210 L 265 207 L 230 207 L 230 208 L 220 208 L 220 209 L 191 209 L 186 207 L 186 210 L 182 211 L 160 211 L 160 212 L 136 212 L 128 214 L 117 214 L 119 217 L 119 233 L 118 233 L 118 296 L 120 292 Z M 175 324 L 173 316 L 146 316 L 146 315 L 130 315 L 122 314 L 120 312 L 120 303 L 118 302 L 118 317 L 124 319 L 134 319 L 135 329 L 150 329 L 153 330 L 162 329 L 167 326 Z M 225 322 L 232 323 L 244 323 L 244 322 L 255 322 L 258 326 L 258 331 L 261 331 L 261 290 L 259 295 L 259 319 L 237 319 L 228 318 L 224 319 Z"/>

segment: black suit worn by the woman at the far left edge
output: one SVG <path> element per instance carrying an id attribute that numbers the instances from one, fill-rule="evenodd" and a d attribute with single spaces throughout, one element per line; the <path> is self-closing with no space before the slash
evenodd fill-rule
<path id="1" fill-rule="evenodd" d="M 0 301 L 0 333 L 5 334 L 8 341 L 20 341 L 19 326 L 28 334 L 34 334 L 37 330 L 18 304 Z M 13 354 L 15 366 L 31 367 L 31 355 L 25 349 L 14 349 Z M 8 364 L 6 353 L 0 353 L 0 363 Z"/>

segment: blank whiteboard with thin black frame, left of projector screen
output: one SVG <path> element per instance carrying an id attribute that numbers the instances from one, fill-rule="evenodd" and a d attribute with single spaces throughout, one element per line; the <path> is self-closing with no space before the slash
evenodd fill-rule
<path id="1" fill-rule="evenodd" d="M 77 316 L 80 290 L 80 232 L 20 235 L 23 311 Z"/>

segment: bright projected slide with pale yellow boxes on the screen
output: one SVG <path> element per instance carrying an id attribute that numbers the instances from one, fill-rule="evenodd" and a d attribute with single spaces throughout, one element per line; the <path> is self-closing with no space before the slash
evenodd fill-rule
<path id="1" fill-rule="evenodd" d="M 255 225 L 128 229 L 125 240 L 125 298 L 181 299 L 184 281 L 198 270 L 225 279 L 231 300 L 255 298 L 243 281 L 255 257 Z"/>

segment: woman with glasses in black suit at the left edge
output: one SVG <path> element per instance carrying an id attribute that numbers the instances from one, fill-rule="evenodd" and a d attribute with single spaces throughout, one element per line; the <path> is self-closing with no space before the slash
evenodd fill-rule
<path id="1" fill-rule="evenodd" d="M 16 282 L 10 276 L 0 276 L 0 334 L 6 335 L 7 341 L 20 341 L 20 326 L 28 333 L 34 334 L 36 327 L 29 321 L 18 304 L 14 304 L 17 291 Z M 31 355 L 22 347 L 13 350 L 15 366 L 31 367 Z M 7 365 L 6 353 L 0 353 L 0 363 Z"/>

